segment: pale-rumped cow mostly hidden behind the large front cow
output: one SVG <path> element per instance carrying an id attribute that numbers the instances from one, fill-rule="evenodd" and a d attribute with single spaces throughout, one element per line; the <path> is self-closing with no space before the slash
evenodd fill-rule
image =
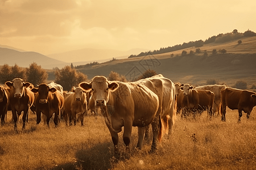
<path id="1" fill-rule="evenodd" d="M 167 127 L 169 125 L 168 130 L 168 138 L 171 135 L 172 125 L 174 124 L 174 119 L 176 117 L 176 89 L 174 83 L 170 79 L 164 78 L 163 75 L 155 75 L 150 78 L 141 79 L 137 82 L 134 82 L 138 85 L 143 84 L 147 86 L 152 92 L 158 95 L 159 99 L 159 111 L 156 113 L 155 120 L 151 123 L 153 136 L 157 137 L 158 135 L 158 126 L 159 126 L 159 116 L 163 119 L 164 125 Z M 165 128 L 166 128 L 165 127 Z M 147 128 L 138 127 L 138 133 L 143 134 L 143 130 L 146 129 L 145 138 L 148 136 Z M 162 135 L 162 134 L 159 134 Z M 143 135 L 139 135 L 139 137 L 143 137 Z M 138 147 L 142 148 L 142 139 L 138 140 Z M 155 139 L 156 141 L 156 139 Z M 153 148 L 154 150 L 154 148 Z"/>

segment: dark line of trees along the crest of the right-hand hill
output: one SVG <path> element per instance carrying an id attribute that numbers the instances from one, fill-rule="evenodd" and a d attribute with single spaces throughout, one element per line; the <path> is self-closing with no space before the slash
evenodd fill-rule
<path id="1" fill-rule="evenodd" d="M 167 48 L 160 48 L 159 50 L 154 50 L 154 51 L 148 51 L 148 52 L 141 52 L 138 55 L 131 55 L 128 58 L 133 58 L 133 57 L 141 57 L 141 56 L 147 56 L 147 55 L 154 55 L 154 54 L 162 54 L 162 53 L 168 53 L 168 52 L 174 52 L 176 50 L 181 50 L 185 48 L 190 48 L 195 46 L 200 47 L 203 46 L 204 44 L 209 44 L 211 42 L 216 42 L 216 43 L 224 43 L 228 41 L 233 41 L 237 39 L 241 39 L 242 37 L 250 37 L 250 36 L 256 36 L 256 33 L 253 31 L 245 31 L 244 33 L 240 33 L 237 31 L 237 29 L 234 29 L 230 33 L 220 33 L 217 36 L 212 36 L 209 37 L 207 40 L 198 40 L 198 41 L 190 41 L 190 42 L 184 42 L 182 45 L 174 45 L 174 46 L 168 46 Z M 242 41 L 241 41 L 242 42 Z M 238 42 L 239 43 L 239 42 Z"/>

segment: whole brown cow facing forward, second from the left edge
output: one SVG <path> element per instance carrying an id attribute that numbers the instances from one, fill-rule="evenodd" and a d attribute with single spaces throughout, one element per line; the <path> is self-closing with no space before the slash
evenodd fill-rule
<path id="1" fill-rule="evenodd" d="M 11 82 L 7 81 L 5 84 L 11 88 L 10 90 L 10 106 L 11 112 L 13 113 L 14 119 L 14 130 L 17 130 L 17 114 L 20 116 L 23 111 L 23 126 L 22 129 L 26 128 L 25 122 L 28 114 L 28 109 L 34 103 L 35 96 L 31 92 L 31 84 L 24 82 L 23 79 L 15 78 Z"/>

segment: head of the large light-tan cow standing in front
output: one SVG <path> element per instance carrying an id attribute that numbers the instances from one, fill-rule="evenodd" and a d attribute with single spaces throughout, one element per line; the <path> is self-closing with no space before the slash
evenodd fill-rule
<path id="1" fill-rule="evenodd" d="M 106 106 L 109 101 L 109 93 L 117 90 L 119 85 L 115 82 L 109 82 L 105 76 L 94 76 L 92 82 L 82 82 L 79 87 L 85 91 L 92 90 L 92 99 L 96 106 Z"/>

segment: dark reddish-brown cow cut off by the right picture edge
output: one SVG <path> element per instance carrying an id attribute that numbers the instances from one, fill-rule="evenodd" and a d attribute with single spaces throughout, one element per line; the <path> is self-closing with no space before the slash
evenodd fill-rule
<path id="1" fill-rule="evenodd" d="M 242 111 L 247 113 L 247 119 L 256 105 L 256 93 L 247 90 L 226 87 L 221 90 L 221 120 L 226 121 L 226 107 L 238 109 L 238 122 L 241 122 Z"/>

